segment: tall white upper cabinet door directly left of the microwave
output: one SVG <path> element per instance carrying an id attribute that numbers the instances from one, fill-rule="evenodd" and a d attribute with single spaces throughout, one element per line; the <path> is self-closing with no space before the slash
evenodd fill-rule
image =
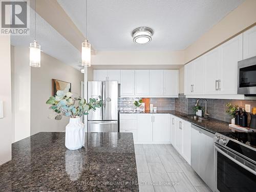
<path id="1" fill-rule="evenodd" d="M 219 94 L 237 94 L 238 61 L 243 59 L 242 44 L 243 35 L 240 34 L 220 46 Z"/>

